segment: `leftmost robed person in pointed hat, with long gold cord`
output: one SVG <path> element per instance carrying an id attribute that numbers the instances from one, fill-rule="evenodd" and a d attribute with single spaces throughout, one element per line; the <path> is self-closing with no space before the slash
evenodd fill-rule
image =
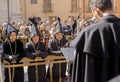
<path id="1" fill-rule="evenodd" d="M 20 60 L 25 56 L 23 43 L 17 40 L 17 32 L 9 26 L 7 32 L 8 39 L 3 43 L 3 59 L 8 61 L 11 65 L 19 64 Z M 11 78 L 9 78 L 8 68 L 5 68 L 5 82 L 24 82 L 23 67 L 12 67 Z"/>

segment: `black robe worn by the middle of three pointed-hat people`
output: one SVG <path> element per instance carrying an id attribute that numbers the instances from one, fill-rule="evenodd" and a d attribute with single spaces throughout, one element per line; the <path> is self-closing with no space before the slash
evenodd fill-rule
<path id="1" fill-rule="evenodd" d="M 38 42 L 36 44 L 33 44 L 32 42 L 28 42 L 26 44 L 25 52 L 27 57 L 35 59 L 36 55 L 33 55 L 33 53 L 36 53 L 36 50 L 43 52 L 43 54 L 39 55 L 42 58 L 47 56 L 47 51 L 44 43 Z M 46 82 L 46 66 L 45 65 L 29 66 L 28 80 L 29 82 Z"/>

